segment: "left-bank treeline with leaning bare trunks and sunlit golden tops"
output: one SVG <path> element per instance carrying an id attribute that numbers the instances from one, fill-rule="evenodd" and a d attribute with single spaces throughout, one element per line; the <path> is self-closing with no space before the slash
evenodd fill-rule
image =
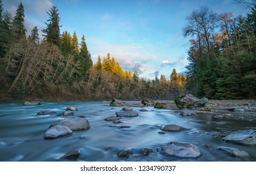
<path id="1" fill-rule="evenodd" d="M 93 65 L 85 36 L 78 43 L 75 32 L 60 34 L 57 7 L 47 14 L 40 40 L 37 26 L 27 34 L 22 3 L 12 17 L 0 0 L 1 101 L 174 99 L 184 93 L 186 77 L 175 69 L 169 79 L 147 80 L 138 71 L 123 71 L 110 53 Z"/>

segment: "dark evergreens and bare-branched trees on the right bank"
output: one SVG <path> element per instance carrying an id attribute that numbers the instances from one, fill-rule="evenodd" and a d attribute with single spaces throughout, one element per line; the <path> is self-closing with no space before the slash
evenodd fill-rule
<path id="1" fill-rule="evenodd" d="M 247 16 L 200 7 L 186 18 L 184 36 L 194 38 L 186 66 L 189 93 L 213 99 L 256 97 L 256 4 L 234 2 L 250 6 Z"/>

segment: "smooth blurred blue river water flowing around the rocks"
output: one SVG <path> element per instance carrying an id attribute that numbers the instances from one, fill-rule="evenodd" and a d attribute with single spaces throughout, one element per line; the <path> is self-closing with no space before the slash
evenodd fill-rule
<path id="1" fill-rule="evenodd" d="M 138 117 L 123 117 L 123 123 L 113 124 L 105 121 L 115 116 L 121 107 L 111 107 L 110 102 L 55 102 L 41 103 L 37 106 L 24 106 L 22 103 L 0 104 L 0 161 L 62 161 L 60 159 L 71 150 L 80 150 L 77 161 L 256 161 L 256 147 L 230 144 L 214 138 L 214 132 L 234 132 L 256 129 L 256 122 L 219 120 L 212 116 L 183 117 L 169 109 L 131 107 Z M 75 116 L 86 116 L 90 129 L 73 131 L 72 135 L 57 139 L 44 139 L 44 133 L 50 124 L 65 119 L 57 114 L 69 106 Z M 57 114 L 39 116 L 39 111 L 55 111 Z M 178 124 L 184 127 L 181 132 L 159 134 L 166 124 Z M 121 126 L 128 126 L 121 128 Z M 176 158 L 161 155 L 157 148 L 166 142 L 178 141 L 197 145 L 202 155 L 196 159 Z M 212 148 L 206 149 L 205 144 Z M 244 150 L 250 157 L 231 157 L 217 150 L 227 146 Z M 140 151 L 149 148 L 152 153 L 141 155 Z M 129 158 L 119 158 L 116 153 L 122 149 L 133 152 Z M 69 161 L 69 160 L 65 160 Z"/>

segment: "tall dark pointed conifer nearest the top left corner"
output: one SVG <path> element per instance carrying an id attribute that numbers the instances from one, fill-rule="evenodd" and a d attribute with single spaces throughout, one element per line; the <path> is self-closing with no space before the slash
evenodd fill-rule
<path id="1" fill-rule="evenodd" d="M 24 17 L 24 7 L 22 3 L 20 3 L 17 7 L 16 14 L 12 22 L 12 35 L 14 37 L 14 42 L 17 42 L 19 39 L 26 37 Z"/>

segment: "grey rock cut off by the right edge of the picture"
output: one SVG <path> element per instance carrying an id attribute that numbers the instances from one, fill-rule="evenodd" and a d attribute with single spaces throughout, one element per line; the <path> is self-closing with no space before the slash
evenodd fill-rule
<path id="1" fill-rule="evenodd" d="M 235 144 L 256 145 L 256 130 L 249 129 L 233 132 L 225 136 L 222 140 Z"/>

